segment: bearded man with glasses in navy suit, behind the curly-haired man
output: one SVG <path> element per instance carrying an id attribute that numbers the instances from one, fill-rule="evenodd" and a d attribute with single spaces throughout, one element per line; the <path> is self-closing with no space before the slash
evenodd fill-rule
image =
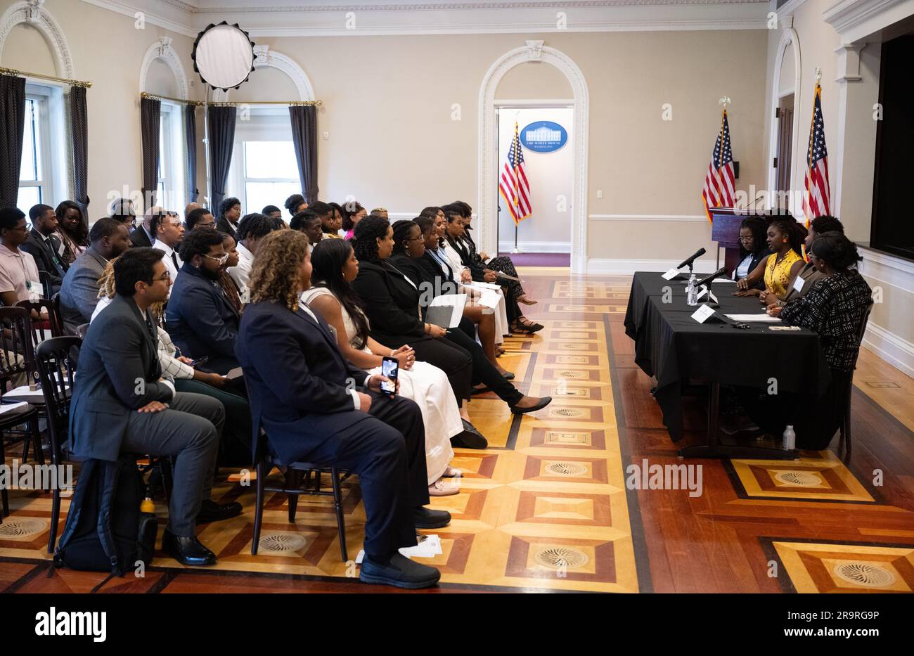
<path id="1" fill-rule="evenodd" d="M 195 360 L 207 358 L 200 365 L 204 371 L 228 374 L 238 366 L 239 311 L 219 284 L 219 272 L 228 260 L 222 233 L 203 227 L 192 230 L 181 254 L 184 266 L 165 309 L 165 329 L 183 354 Z"/>

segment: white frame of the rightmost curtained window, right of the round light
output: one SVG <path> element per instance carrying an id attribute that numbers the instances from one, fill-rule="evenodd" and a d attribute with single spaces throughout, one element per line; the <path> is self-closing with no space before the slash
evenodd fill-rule
<path id="1" fill-rule="evenodd" d="M 275 183 L 293 183 L 299 185 L 301 180 L 296 170 L 294 177 L 248 177 L 245 175 L 247 170 L 247 149 L 245 142 L 291 142 L 292 141 L 292 123 L 289 121 L 289 111 L 285 108 L 275 107 L 252 107 L 250 109 L 250 118 L 247 121 L 236 123 L 235 143 L 232 146 L 231 164 L 228 167 L 228 184 L 226 197 L 235 196 L 241 201 L 242 216 L 251 212 L 260 212 L 262 207 L 248 206 L 248 183 L 249 182 L 275 182 Z M 277 198 L 277 206 L 282 206 L 285 198 Z M 218 211 L 218 207 L 216 208 Z M 283 219 L 288 221 L 288 217 L 283 212 Z"/>

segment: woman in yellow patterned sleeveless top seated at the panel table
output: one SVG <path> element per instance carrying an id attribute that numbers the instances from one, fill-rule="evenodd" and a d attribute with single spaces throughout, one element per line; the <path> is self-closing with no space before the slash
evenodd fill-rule
<path id="1" fill-rule="evenodd" d="M 774 302 L 774 297 L 786 298 L 791 289 L 793 278 L 802 269 L 803 228 L 793 217 L 776 217 L 768 227 L 768 247 L 771 255 L 759 263 L 759 266 L 746 278 L 737 281 L 734 296 L 754 296 L 759 294 L 763 304 Z M 765 290 L 753 291 L 752 287 L 764 277 Z"/>

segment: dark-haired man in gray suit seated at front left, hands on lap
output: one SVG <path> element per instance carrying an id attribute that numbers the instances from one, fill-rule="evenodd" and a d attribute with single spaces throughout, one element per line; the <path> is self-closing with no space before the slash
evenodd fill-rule
<path id="1" fill-rule="evenodd" d="M 195 524 L 241 512 L 239 503 L 209 500 L 225 409 L 213 397 L 175 393 L 162 378 L 149 311 L 171 286 L 162 251 L 124 253 L 114 263 L 114 285 L 117 295 L 80 347 L 70 451 L 98 460 L 117 460 L 122 452 L 170 457 L 175 482 L 162 548 L 183 565 L 212 565 L 216 555 L 197 540 Z"/>

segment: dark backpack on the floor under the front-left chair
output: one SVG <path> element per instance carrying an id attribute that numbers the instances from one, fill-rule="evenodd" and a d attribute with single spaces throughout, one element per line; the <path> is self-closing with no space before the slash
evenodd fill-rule
<path id="1" fill-rule="evenodd" d="M 54 566 L 111 572 L 112 577 L 122 577 L 139 562 L 149 566 L 158 526 L 154 513 L 140 512 L 144 496 L 143 475 L 133 459 L 86 460 Z"/>

